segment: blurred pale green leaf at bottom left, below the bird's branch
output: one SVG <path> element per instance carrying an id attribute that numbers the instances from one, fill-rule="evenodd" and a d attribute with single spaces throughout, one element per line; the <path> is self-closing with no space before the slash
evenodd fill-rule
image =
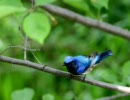
<path id="1" fill-rule="evenodd" d="M 34 90 L 31 88 L 24 88 L 23 90 L 16 90 L 12 93 L 12 100 L 32 100 Z"/>

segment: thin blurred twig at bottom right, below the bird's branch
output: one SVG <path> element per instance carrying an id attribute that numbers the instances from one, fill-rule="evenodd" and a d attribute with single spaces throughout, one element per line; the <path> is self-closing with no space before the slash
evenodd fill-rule
<path id="1" fill-rule="evenodd" d="M 104 97 L 104 98 L 99 98 L 99 99 L 96 99 L 96 100 L 113 100 L 113 99 L 118 99 L 118 98 L 126 97 L 126 96 L 130 96 L 130 94 L 122 93 L 122 94 L 118 94 L 118 95 L 114 95 L 114 96 L 108 96 L 108 97 Z"/>

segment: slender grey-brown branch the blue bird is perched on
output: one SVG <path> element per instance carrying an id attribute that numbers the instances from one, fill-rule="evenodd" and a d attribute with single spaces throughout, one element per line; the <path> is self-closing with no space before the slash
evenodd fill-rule
<path id="1" fill-rule="evenodd" d="M 47 72 L 47 73 L 51 73 L 51 74 L 54 74 L 54 75 L 63 76 L 63 77 L 71 78 L 71 79 L 78 80 L 78 81 L 81 81 L 81 82 L 84 82 L 84 83 L 88 83 L 88 84 L 91 84 L 91 85 L 99 86 L 99 87 L 102 87 L 102 88 L 107 88 L 107 89 L 116 90 L 116 91 L 120 91 L 120 92 L 130 94 L 130 88 L 129 87 L 104 83 L 104 82 L 91 80 L 91 79 L 87 79 L 87 78 L 83 80 L 82 76 L 80 76 L 80 77 L 79 76 L 70 76 L 70 74 L 67 73 L 67 72 L 48 67 L 46 65 L 36 64 L 36 63 L 30 62 L 30 61 L 20 60 L 20 59 L 5 57 L 5 56 L 0 56 L 0 61 L 11 63 L 11 64 L 23 65 L 23 66 L 34 68 L 34 69 L 37 69 L 37 70 L 41 70 L 41 71 L 44 71 L 44 72 Z"/>

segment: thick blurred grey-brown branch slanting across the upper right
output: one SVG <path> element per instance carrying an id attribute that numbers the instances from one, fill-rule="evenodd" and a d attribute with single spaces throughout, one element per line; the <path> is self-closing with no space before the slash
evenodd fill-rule
<path id="1" fill-rule="evenodd" d="M 109 32 L 110 34 L 117 35 L 117 36 L 130 40 L 130 31 L 126 29 L 122 29 L 120 27 L 117 27 L 117 26 L 114 26 L 105 22 L 94 20 L 89 17 L 82 16 L 73 11 L 70 11 L 70 10 L 67 10 L 65 8 L 61 8 L 58 6 L 54 6 L 54 5 L 44 5 L 44 6 L 41 6 L 41 8 L 47 10 L 50 13 L 54 13 L 56 15 L 79 22 L 83 25 L 94 27 L 94 28 L 103 30 L 105 32 Z"/>

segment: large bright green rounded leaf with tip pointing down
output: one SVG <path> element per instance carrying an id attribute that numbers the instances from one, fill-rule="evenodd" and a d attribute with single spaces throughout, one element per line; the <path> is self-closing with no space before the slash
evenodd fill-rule
<path id="1" fill-rule="evenodd" d="M 50 29 L 48 17 L 43 13 L 32 13 L 23 22 L 23 30 L 27 36 L 41 44 L 44 43 Z"/>

